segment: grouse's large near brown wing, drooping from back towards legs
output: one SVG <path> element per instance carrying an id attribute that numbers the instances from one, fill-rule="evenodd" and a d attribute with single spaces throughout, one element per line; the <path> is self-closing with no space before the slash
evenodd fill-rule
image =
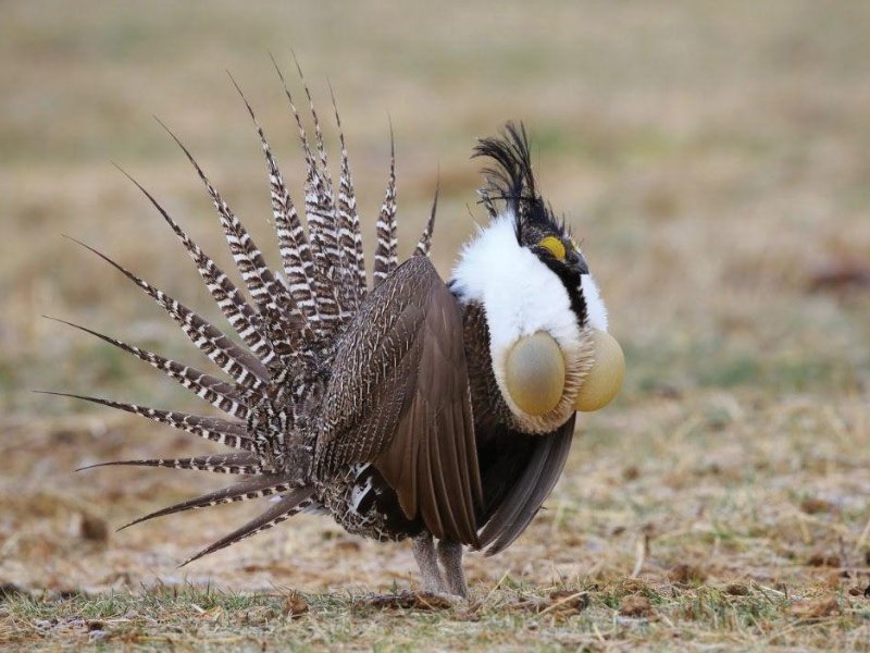
<path id="1" fill-rule="evenodd" d="M 323 402 L 316 466 L 371 463 L 406 516 L 477 545 L 483 502 L 462 318 L 425 257 L 387 276 L 348 325 Z"/>

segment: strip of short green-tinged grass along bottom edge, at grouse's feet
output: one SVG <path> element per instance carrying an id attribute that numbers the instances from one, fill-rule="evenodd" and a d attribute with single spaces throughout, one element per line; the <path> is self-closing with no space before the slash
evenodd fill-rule
<path id="1" fill-rule="evenodd" d="M 671 646 L 775 646 L 821 641 L 844 630 L 858 644 L 866 634 L 849 631 L 852 621 L 869 615 L 860 600 L 848 594 L 801 605 L 760 583 L 711 588 L 700 581 L 681 577 L 667 589 L 631 579 L 606 587 L 591 582 L 530 588 L 505 576 L 468 605 L 435 603 L 414 609 L 376 607 L 364 594 L 301 594 L 279 588 L 256 594 L 186 586 L 98 597 L 13 597 L 3 641 L 32 643 L 36 636 L 78 645 L 183 649 L 196 642 L 203 649 L 229 644 L 417 650 L 422 641 L 436 649 L 597 649 L 612 642 L 661 642 L 662 636 Z M 676 623 L 679 631 L 673 629 Z"/>

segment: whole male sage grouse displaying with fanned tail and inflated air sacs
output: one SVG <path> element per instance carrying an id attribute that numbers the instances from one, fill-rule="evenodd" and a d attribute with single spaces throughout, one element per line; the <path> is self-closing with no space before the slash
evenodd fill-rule
<path id="1" fill-rule="evenodd" d="M 249 298 L 134 182 L 175 232 L 247 348 L 96 252 L 162 306 L 231 380 L 78 326 L 163 371 L 228 417 L 67 396 L 235 449 L 105 463 L 243 478 L 133 523 L 273 496 L 263 514 L 187 563 L 298 513 L 323 513 L 351 533 L 380 541 L 411 538 L 425 589 L 465 595 L 463 545 L 492 555 L 525 530 L 561 475 L 575 411 L 600 408 L 617 394 L 622 353 L 607 334 L 605 307 L 583 255 L 538 193 L 522 126 L 508 123 L 499 138 L 482 139 L 474 149 L 492 162 L 480 190 L 490 220 L 465 245 L 447 284 L 427 258 L 434 206 L 413 256 L 401 264 L 397 260 L 391 159 L 370 286 L 337 111 L 341 152 L 334 184 L 308 88 L 313 140 L 286 85 L 285 93 L 307 168 L 307 232 L 245 101 L 269 171 L 281 272 L 269 268 L 178 143 L 217 209 Z"/>

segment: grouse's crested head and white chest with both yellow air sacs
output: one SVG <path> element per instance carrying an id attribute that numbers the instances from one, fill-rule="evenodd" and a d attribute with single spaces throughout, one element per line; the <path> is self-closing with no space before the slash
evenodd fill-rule
<path id="1" fill-rule="evenodd" d="M 451 288 L 484 310 L 493 374 L 515 426 L 546 433 L 619 392 L 625 362 L 586 259 L 542 199 L 522 125 L 485 138 L 490 222 L 462 250 Z"/>

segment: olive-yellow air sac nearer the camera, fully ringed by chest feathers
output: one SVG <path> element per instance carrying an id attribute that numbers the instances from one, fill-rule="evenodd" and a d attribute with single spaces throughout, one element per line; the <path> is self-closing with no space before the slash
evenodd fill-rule
<path id="1" fill-rule="evenodd" d="M 508 352 L 505 382 L 510 398 L 526 415 L 549 412 L 564 391 L 564 358 L 543 331 L 522 337 Z"/>

